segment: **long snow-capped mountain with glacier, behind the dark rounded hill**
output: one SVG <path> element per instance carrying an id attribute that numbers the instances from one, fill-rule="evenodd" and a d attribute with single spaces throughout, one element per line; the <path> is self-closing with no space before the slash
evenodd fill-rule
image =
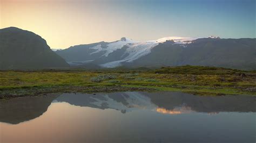
<path id="1" fill-rule="evenodd" d="M 195 65 L 256 69 L 255 45 L 255 38 L 165 37 L 145 42 L 122 38 L 72 46 L 56 53 L 71 66 L 88 68 Z"/>

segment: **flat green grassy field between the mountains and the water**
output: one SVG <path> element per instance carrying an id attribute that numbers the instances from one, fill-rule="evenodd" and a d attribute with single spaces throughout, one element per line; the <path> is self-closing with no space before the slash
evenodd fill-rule
<path id="1" fill-rule="evenodd" d="M 57 92 L 161 90 L 256 95 L 256 72 L 181 66 L 160 69 L 0 71 L 0 98 Z"/>

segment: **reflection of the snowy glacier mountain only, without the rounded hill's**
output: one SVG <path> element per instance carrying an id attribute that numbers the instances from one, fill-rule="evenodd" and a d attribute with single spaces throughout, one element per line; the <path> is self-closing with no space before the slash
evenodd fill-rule
<path id="1" fill-rule="evenodd" d="M 157 108 L 180 112 L 255 112 L 254 96 L 194 96 L 182 92 L 116 92 L 110 94 L 63 94 L 55 102 L 98 109 L 131 112 Z M 188 111 L 189 110 L 189 111 Z"/>

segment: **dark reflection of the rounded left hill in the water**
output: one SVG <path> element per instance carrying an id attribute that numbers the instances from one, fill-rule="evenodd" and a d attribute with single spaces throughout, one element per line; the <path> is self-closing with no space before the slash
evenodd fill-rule
<path id="1" fill-rule="evenodd" d="M 41 116 L 59 95 L 0 100 L 0 121 L 18 124 Z"/>

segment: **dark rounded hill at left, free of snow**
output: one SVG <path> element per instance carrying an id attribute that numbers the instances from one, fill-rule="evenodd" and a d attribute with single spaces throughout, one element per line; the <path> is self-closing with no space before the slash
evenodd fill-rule
<path id="1" fill-rule="evenodd" d="M 0 29 L 0 69 L 69 67 L 39 35 L 16 27 Z"/>

